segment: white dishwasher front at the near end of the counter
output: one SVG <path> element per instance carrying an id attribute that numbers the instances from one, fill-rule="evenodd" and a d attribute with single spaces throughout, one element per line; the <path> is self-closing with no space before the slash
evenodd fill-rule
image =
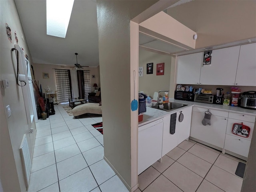
<path id="1" fill-rule="evenodd" d="M 138 175 L 162 157 L 164 118 L 139 127 Z"/>

